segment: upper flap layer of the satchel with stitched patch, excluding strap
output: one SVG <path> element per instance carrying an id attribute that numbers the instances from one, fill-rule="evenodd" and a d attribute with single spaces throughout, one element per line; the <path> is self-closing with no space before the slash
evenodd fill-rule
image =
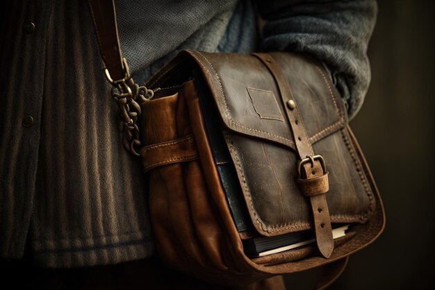
<path id="1" fill-rule="evenodd" d="M 311 117 L 305 124 L 311 144 L 345 126 L 343 101 L 323 67 L 294 53 L 270 53 L 270 56 L 286 63 L 284 74 L 299 112 L 303 118 Z M 254 56 L 181 51 L 147 86 L 179 85 L 186 81 L 177 79 L 183 75 L 180 71 L 190 75 L 195 65 L 202 70 L 227 128 L 295 149 L 290 125 L 284 117 L 286 104 L 280 101 L 273 76 Z"/>

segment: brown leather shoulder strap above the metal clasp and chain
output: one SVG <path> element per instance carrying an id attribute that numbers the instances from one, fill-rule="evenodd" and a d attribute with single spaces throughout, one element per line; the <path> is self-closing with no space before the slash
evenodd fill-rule
<path id="1" fill-rule="evenodd" d="M 126 78 L 129 71 L 122 58 L 116 24 L 115 1 L 88 0 L 88 3 L 101 58 L 107 69 L 106 76 L 108 74 L 110 83 Z"/>

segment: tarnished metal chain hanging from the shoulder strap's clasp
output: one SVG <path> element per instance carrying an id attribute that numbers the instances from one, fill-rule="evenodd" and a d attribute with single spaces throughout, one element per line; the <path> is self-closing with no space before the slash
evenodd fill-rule
<path id="1" fill-rule="evenodd" d="M 142 146 L 137 123 L 138 117 L 142 113 L 140 104 L 151 100 L 154 91 L 134 83 L 133 78 L 118 80 L 113 83 L 113 87 L 112 96 L 120 113 L 120 130 L 122 130 L 124 147 L 139 157 L 138 149 Z"/>

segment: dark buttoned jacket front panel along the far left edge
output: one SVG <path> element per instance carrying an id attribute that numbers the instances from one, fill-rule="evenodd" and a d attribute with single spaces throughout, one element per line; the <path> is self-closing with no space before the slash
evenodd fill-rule
<path id="1" fill-rule="evenodd" d="M 49 10 L 26 3 L 26 10 L 13 3 L 3 7 L 18 23 L 49 17 Z M 4 21 L 4 20 L 3 20 Z M 0 67 L 0 253 L 1 257 L 22 255 L 31 219 L 40 131 L 24 128 L 22 118 L 33 115 L 40 122 L 44 83 L 47 23 L 40 22 L 35 37 L 23 35 L 21 27 L 2 26 Z M 8 29 L 5 29 L 8 27 Z M 13 51 L 13 53 L 10 53 Z M 28 53 L 31 52 L 31 53 Z M 39 56 L 35 58 L 35 56 Z M 17 65 L 19 64 L 19 65 Z"/>

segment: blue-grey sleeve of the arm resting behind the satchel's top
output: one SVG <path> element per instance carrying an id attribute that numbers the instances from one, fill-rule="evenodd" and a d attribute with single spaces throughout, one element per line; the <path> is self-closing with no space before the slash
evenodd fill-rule
<path id="1" fill-rule="evenodd" d="M 265 20 L 263 51 L 307 53 L 325 63 L 349 117 L 363 104 L 370 83 L 367 46 L 376 1 L 258 1 Z"/>

